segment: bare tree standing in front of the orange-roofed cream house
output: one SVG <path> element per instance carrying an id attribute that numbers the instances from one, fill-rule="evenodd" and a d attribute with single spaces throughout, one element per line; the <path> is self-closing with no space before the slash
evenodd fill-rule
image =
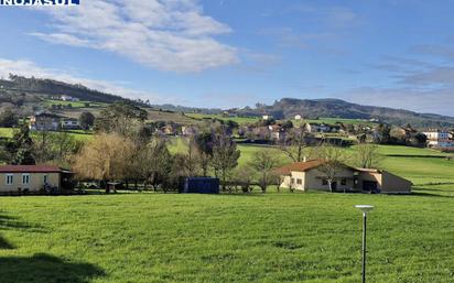
<path id="1" fill-rule="evenodd" d="M 323 173 L 328 183 L 329 192 L 333 193 L 333 183 L 336 182 L 338 173 L 345 168 L 345 151 L 337 146 L 322 144 L 317 148 L 316 153 L 317 157 L 322 161 L 317 170 Z"/>

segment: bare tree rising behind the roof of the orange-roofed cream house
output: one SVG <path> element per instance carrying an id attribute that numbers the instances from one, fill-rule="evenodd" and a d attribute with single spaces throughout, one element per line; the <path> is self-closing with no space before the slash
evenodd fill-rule
<path id="1" fill-rule="evenodd" d="M 307 144 L 307 133 L 304 128 L 289 130 L 285 139 L 280 142 L 279 149 L 293 162 L 302 162 L 310 153 Z"/>

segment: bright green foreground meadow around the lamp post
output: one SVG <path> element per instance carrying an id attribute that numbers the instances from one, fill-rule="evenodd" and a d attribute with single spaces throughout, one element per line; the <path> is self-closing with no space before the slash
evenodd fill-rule
<path id="1" fill-rule="evenodd" d="M 452 282 L 454 188 L 1 198 L 0 274 L 20 282 Z"/>

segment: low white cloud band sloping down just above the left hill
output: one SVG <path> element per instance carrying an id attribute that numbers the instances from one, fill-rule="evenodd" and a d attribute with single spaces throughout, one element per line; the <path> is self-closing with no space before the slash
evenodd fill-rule
<path id="1" fill-rule="evenodd" d="M 152 104 L 181 102 L 179 99 L 175 99 L 171 96 L 150 94 L 147 91 L 127 88 L 125 86 L 121 86 L 121 84 L 116 84 L 107 80 L 87 79 L 78 76 L 73 76 L 72 74 L 58 69 L 40 67 L 35 63 L 26 59 L 11 61 L 0 58 L 0 76 L 2 78 L 8 78 L 10 73 L 25 77 L 33 76 L 36 78 L 61 80 L 68 84 L 82 84 L 91 89 L 112 95 L 119 95 L 127 98 L 141 98 L 143 100 L 150 99 Z"/>

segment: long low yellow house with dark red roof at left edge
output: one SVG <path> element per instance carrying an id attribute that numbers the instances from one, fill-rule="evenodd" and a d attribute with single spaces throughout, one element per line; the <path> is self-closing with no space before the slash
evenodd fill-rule
<path id="1" fill-rule="evenodd" d="M 0 194 L 40 193 L 71 187 L 73 173 L 48 165 L 0 166 Z"/>

